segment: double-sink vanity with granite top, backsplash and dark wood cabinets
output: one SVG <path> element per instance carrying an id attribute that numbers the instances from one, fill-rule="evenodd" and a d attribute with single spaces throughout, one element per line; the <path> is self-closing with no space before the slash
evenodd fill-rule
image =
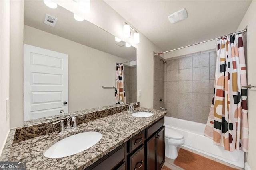
<path id="1" fill-rule="evenodd" d="M 1 161 L 26 161 L 26 169 L 78 170 L 160 170 L 164 164 L 164 115 L 166 111 L 139 106 L 128 113 L 127 105 L 112 106 L 90 113 L 78 111 L 78 128 L 58 134 L 57 120 L 35 123 L 10 130 Z M 149 112 L 150 117 L 133 113 Z M 64 118 L 66 125 L 66 119 Z M 76 154 L 48 158 L 46 150 L 62 139 L 84 132 L 99 132 L 102 138 L 92 147 Z M 90 140 L 90 139 L 86 139 Z M 85 141 L 86 141 L 85 140 Z M 66 149 L 74 149 L 77 142 Z"/>

